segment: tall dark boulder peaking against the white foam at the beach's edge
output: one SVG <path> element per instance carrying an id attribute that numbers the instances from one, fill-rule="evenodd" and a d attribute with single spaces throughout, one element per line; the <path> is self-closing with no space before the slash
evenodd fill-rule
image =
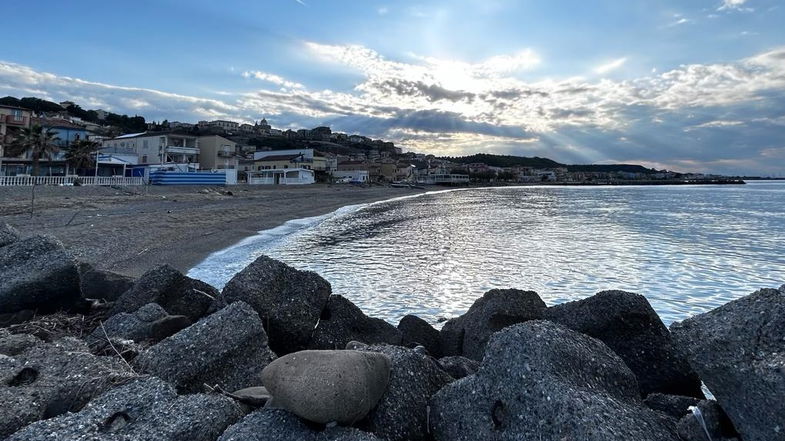
<path id="1" fill-rule="evenodd" d="M 262 318 L 270 347 L 284 355 L 306 349 L 331 290 L 316 273 L 261 256 L 226 284 L 217 305 L 238 300 L 251 305 Z"/>

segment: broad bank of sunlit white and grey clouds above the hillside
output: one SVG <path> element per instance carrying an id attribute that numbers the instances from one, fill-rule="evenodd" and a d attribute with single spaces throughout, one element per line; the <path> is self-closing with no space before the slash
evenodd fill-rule
<path id="1" fill-rule="evenodd" d="M 253 90 L 220 99 L 124 87 L 0 62 L 0 91 L 71 99 L 148 119 L 330 125 L 442 154 L 476 151 L 568 163 L 646 162 L 659 168 L 785 173 L 785 47 L 726 63 L 690 64 L 630 80 L 524 80 L 539 56 L 523 49 L 467 62 L 411 54 L 391 60 L 357 45 L 306 43 L 315 63 L 358 73 L 353 88 L 311 89 L 264 71 Z M 622 61 L 620 61 L 622 60 Z M 625 59 L 613 60 L 618 68 Z M 608 68 L 611 69 L 611 68 Z M 610 70 L 605 70 L 610 72 Z M 251 88 L 251 86 L 249 86 Z"/>

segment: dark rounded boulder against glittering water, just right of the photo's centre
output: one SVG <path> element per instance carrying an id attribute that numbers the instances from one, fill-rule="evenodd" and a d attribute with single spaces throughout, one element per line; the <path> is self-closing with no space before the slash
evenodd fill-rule
<path id="1" fill-rule="evenodd" d="M 545 309 L 545 302 L 534 291 L 492 289 L 464 315 L 444 324 L 442 354 L 482 360 L 491 334 L 516 323 L 540 319 Z"/>

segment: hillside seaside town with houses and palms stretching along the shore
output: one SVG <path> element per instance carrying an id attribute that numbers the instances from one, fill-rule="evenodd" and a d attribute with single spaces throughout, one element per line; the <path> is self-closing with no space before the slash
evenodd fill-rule
<path id="1" fill-rule="evenodd" d="M 313 183 L 657 184 L 738 182 L 640 165 L 565 165 L 547 158 L 450 158 L 330 127 L 282 130 L 253 122 L 155 121 L 77 103 L 0 99 L 0 185 Z"/>

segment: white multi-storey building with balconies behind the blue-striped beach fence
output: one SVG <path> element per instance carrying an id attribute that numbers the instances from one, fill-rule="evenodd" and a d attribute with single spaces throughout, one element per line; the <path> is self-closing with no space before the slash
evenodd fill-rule
<path id="1" fill-rule="evenodd" d="M 133 153 L 139 164 L 188 164 L 199 168 L 199 139 L 172 132 L 142 132 L 103 141 L 101 153 Z"/>

